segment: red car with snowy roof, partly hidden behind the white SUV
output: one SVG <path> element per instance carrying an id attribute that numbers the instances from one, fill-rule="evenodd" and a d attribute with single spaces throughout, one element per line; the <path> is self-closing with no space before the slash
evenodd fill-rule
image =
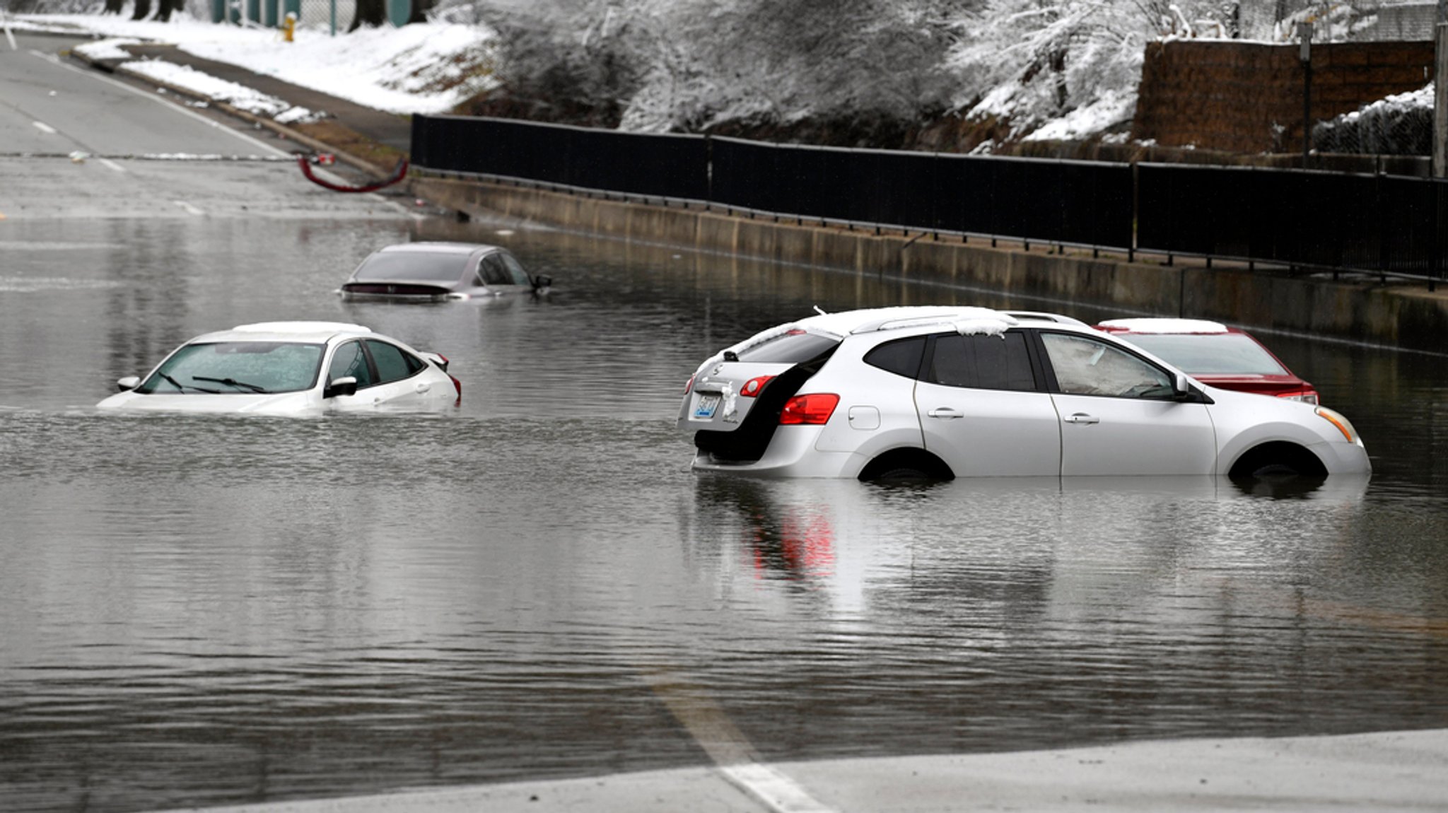
<path id="1" fill-rule="evenodd" d="M 1202 383 L 1318 404 L 1318 391 L 1244 330 L 1174 318 L 1109 320 L 1096 330 L 1141 347 Z"/>

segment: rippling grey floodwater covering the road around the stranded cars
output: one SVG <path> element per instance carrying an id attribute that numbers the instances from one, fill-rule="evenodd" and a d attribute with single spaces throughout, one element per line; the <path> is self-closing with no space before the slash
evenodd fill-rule
<path id="1" fill-rule="evenodd" d="M 511 246 L 555 294 L 333 294 L 374 246 Z M 0 231 L 0 809 L 145 810 L 763 759 L 1448 726 L 1442 359 L 1263 337 L 1371 480 L 699 477 L 707 354 L 947 288 L 487 224 Z M 103 415 L 248 321 L 452 359 L 442 417 Z M 718 729 L 720 726 L 714 726 Z M 696 733 L 699 733 L 696 736 Z"/>

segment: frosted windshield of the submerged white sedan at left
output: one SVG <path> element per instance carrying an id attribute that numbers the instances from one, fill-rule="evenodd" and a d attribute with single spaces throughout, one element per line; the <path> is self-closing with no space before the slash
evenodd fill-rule
<path id="1" fill-rule="evenodd" d="M 217 341 L 187 344 L 162 362 L 140 393 L 271 393 L 310 389 L 324 344 Z"/>

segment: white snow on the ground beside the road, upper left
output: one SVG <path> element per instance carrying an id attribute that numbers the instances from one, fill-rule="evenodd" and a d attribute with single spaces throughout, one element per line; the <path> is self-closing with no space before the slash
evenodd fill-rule
<path id="1" fill-rule="evenodd" d="M 274 29 L 203 22 L 184 13 L 168 23 L 100 14 L 16 14 L 9 20 L 17 30 L 84 32 L 107 38 L 101 46 L 107 52 L 120 51 L 127 41 L 171 43 L 206 59 L 240 65 L 391 113 L 446 113 L 497 84 L 492 75 L 497 36 L 476 25 L 416 23 L 359 29 L 337 36 L 321 27 L 300 27 L 295 42 L 284 42 L 281 32 Z M 90 55 L 97 54 L 91 51 Z M 167 74 L 153 78 L 165 78 L 206 95 L 219 90 L 213 84 L 216 80 L 175 68 L 153 68 Z M 223 93 L 232 95 L 213 98 L 232 104 L 245 98 L 235 85 L 223 88 Z"/>

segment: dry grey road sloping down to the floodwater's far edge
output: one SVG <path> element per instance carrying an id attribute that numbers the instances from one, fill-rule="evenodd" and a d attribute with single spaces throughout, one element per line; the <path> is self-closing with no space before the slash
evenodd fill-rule
<path id="1" fill-rule="evenodd" d="M 59 56 L 71 43 L 0 39 L 0 217 L 407 216 L 308 182 L 269 132 Z"/>

